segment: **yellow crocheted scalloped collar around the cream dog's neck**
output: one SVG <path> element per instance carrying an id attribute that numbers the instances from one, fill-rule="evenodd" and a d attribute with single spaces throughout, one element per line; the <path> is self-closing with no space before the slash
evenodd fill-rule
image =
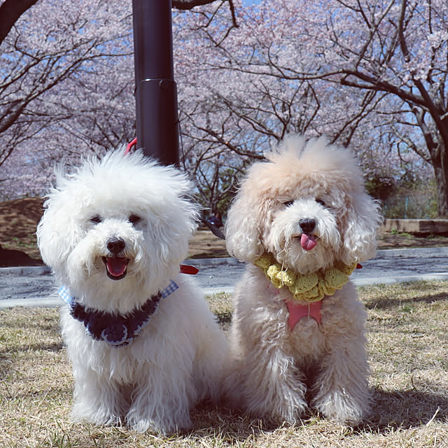
<path id="1" fill-rule="evenodd" d="M 276 288 L 286 286 L 295 300 L 318 302 L 325 295 L 333 295 L 337 289 L 341 289 L 349 281 L 349 275 L 356 269 L 357 263 L 351 266 L 341 264 L 328 267 L 312 274 L 300 274 L 288 268 L 284 269 L 272 253 L 265 253 L 254 265 L 265 272 L 267 279 Z"/>

